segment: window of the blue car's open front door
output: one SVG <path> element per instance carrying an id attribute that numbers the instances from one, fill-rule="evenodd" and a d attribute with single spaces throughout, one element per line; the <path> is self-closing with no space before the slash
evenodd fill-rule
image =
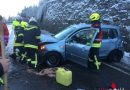
<path id="1" fill-rule="evenodd" d="M 73 43 L 79 43 L 83 45 L 90 45 L 95 30 L 82 30 L 77 32 L 71 37 Z"/>

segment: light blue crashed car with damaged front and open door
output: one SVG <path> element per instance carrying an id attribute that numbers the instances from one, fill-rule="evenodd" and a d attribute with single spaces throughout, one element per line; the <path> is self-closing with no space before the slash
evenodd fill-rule
<path id="1" fill-rule="evenodd" d="M 101 25 L 103 30 L 100 58 L 120 61 L 123 57 L 123 44 L 118 26 Z M 98 29 L 81 23 L 71 25 L 58 34 L 41 35 L 40 57 L 48 66 L 57 66 L 62 61 L 71 60 L 87 66 L 88 54 Z M 90 35 L 92 37 L 90 38 Z"/>

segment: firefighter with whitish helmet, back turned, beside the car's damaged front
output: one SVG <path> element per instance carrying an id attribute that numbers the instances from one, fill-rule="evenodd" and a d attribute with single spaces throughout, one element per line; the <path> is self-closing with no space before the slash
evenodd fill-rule
<path id="1" fill-rule="evenodd" d="M 37 68 L 37 53 L 38 43 L 40 42 L 40 33 L 37 21 L 34 18 L 31 18 L 28 27 L 24 30 L 24 48 L 27 53 L 26 58 L 29 68 Z"/>

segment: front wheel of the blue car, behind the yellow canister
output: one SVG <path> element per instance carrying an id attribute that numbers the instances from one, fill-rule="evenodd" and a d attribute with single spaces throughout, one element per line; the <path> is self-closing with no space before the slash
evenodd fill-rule
<path id="1" fill-rule="evenodd" d="M 56 67 L 61 62 L 61 56 L 58 53 L 49 53 L 46 57 L 46 64 L 49 67 Z"/>

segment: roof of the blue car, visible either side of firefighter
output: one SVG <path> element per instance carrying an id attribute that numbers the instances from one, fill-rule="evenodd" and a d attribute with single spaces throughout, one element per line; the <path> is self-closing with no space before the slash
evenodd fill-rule
<path id="1" fill-rule="evenodd" d="M 91 24 L 86 24 L 86 23 L 80 23 L 80 24 L 74 24 L 72 27 L 75 27 L 76 29 L 82 29 L 82 28 L 88 28 L 91 27 Z M 105 25 L 101 24 L 102 28 L 113 28 L 113 29 L 119 29 L 119 26 L 115 25 Z"/>

